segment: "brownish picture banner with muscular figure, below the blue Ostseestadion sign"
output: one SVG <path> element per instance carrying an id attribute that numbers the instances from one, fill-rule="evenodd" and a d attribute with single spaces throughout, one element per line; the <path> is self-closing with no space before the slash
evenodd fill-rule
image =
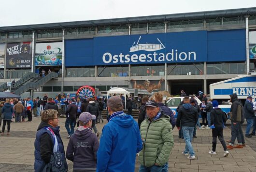
<path id="1" fill-rule="evenodd" d="M 165 90 L 164 79 L 160 80 L 144 80 L 144 81 L 136 81 L 131 79 L 131 86 L 135 89 L 143 89 L 147 90 L 147 92 L 151 93 L 152 91 L 163 91 Z M 163 83 L 163 84 L 162 84 Z"/>

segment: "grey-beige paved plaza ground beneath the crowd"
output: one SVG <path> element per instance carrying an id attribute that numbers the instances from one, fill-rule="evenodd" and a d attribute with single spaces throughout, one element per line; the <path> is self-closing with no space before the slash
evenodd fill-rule
<path id="1" fill-rule="evenodd" d="M 9 136 L 0 135 L 0 172 L 33 172 L 34 140 L 40 118 L 33 118 L 32 122 L 11 123 Z M 105 123 L 97 124 L 101 131 Z M 65 146 L 68 145 L 65 118 L 59 118 L 60 135 Z M 245 124 L 244 126 L 245 127 Z M 256 172 L 256 137 L 245 138 L 246 147 L 230 150 L 228 157 L 223 157 L 224 150 L 220 142 L 217 145 L 217 155 L 210 155 L 212 147 L 212 133 L 210 129 L 198 130 L 193 140 L 196 160 L 188 160 L 182 151 L 185 148 L 183 139 L 178 138 L 178 130 L 173 130 L 175 146 L 169 159 L 169 172 Z M 230 138 L 229 127 L 224 130 L 225 140 Z M 72 172 L 72 162 L 68 160 L 69 172 Z M 140 164 L 136 160 L 135 171 Z"/>

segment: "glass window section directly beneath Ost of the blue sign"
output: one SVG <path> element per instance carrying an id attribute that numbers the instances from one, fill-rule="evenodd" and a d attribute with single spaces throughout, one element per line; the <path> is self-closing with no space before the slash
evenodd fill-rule
<path id="1" fill-rule="evenodd" d="M 99 66 L 98 76 L 128 76 L 128 65 L 125 66 Z"/>

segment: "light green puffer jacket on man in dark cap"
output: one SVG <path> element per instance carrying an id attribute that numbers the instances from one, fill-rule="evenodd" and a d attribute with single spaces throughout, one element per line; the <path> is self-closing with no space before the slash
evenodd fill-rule
<path id="1" fill-rule="evenodd" d="M 146 119 L 141 123 L 141 135 L 144 140 L 139 161 L 145 167 L 157 163 L 163 166 L 169 160 L 174 146 L 170 117 L 165 114 L 149 123 Z"/>

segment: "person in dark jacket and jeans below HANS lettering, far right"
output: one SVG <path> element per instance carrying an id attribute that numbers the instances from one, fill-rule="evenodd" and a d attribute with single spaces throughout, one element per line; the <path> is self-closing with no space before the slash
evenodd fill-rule
<path id="1" fill-rule="evenodd" d="M 250 130 L 251 130 L 251 127 L 253 126 L 254 119 L 255 119 L 252 96 L 248 96 L 244 103 L 244 118 L 246 119 L 246 122 L 247 122 L 245 137 L 251 138 L 252 135 L 250 135 Z"/>

